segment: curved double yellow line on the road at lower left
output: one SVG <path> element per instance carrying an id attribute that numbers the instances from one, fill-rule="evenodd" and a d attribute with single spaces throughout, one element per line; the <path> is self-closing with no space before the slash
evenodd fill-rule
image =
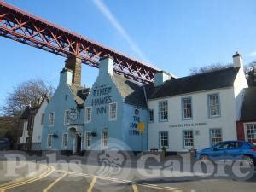
<path id="1" fill-rule="evenodd" d="M 4 192 L 7 189 L 12 189 L 12 188 L 15 188 L 15 187 L 20 187 L 20 186 L 28 184 L 28 183 L 33 183 L 33 182 L 38 181 L 38 180 L 40 180 L 44 177 L 48 177 L 53 172 L 55 172 L 55 168 L 53 166 L 49 166 L 47 168 L 47 171 L 42 173 L 38 177 L 32 177 L 32 178 L 28 178 L 28 179 L 25 179 L 25 180 L 20 181 L 20 182 L 15 182 L 15 183 L 11 183 L 11 184 L 8 184 L 8 185 L 3 185 L 3 186 L 0 187 L 0 191 Z"/>

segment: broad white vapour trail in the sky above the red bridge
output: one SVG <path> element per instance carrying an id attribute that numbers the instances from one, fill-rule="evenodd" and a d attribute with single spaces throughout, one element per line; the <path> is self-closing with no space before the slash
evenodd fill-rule
<path id="1" fill-rule="evenodd" d="M 102 0 L 94 0 L 93 2 L 96 4 L 96 7 L 102 11 L 102 14 L 106 16 L 106 18 L 111 23 L 111 25 L 115 28 L 115 30 L 119 32 L 119 35 L 125 38 L 125 41 L 127 42 L 127 44 L 129 44 L 131 50 L 135 54 L 137 54 L 140 57 L 140 59 L 142 59 L 143 61 L 149 62 L 148 58 L 143 54 L 143 51 L 138 48 L 137 44 L 131 39 L 129 34 L 123 28 L 123 26 L 119 24 L 119 21 L 111 13 L 107 5 L 105 5 L 102 2 Z"/>

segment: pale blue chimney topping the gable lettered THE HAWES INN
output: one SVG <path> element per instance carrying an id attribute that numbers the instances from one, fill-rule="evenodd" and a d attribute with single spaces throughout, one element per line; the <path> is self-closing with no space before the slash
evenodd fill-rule
<path id="1" fill-rule="evenodd" d="M 110 74 L 113 75 L 113 57 L 106 55 L 100 59 L 100 75 Z"/>

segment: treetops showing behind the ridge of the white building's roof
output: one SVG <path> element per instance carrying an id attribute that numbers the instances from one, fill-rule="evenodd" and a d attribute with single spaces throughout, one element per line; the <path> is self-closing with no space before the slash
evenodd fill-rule
<path id="1" fill-rule="evenodd" d="M 229 63 L 229 64 L 220 64 L 220 63 L 213 63 L 211 65 L 205 66 L 205 67 L 194 67 L 194 68 L 190 68 L 190 74 L 191 75 L 195 75 L 195 74 L 201 74 L 201 73 L 208 73 L 208 72 L 214 72 L 214 71 L 218 71 L 220 69 L 224 69 L 224 68 L 229 68 L 232 67 L 233 64 Z"/>

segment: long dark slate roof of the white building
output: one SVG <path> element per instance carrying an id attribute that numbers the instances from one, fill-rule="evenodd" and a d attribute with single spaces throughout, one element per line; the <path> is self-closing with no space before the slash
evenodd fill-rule
<path id="1" fill-rule="evenodd" d="M 214 72 L 171 79 L 156 87 L 150 99 L 177 96 L 202 90 L 232 87 L 239 68 L 225 68 Z"/>

